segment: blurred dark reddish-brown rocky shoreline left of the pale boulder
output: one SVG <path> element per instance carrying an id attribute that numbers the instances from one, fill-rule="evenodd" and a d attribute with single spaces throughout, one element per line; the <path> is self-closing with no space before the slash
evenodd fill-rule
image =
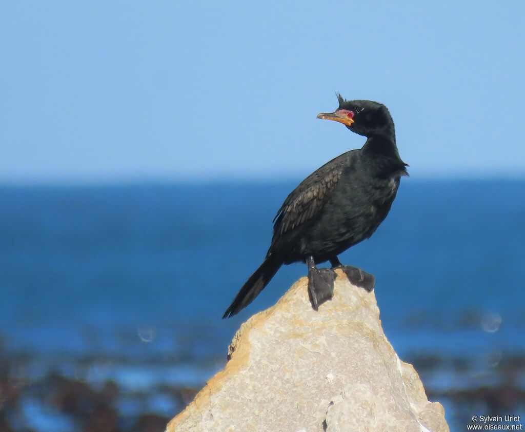
<path id="1" fill-rule="evenodd" d="M 4 360 L 0 366 L 2 432 L 158 432 L 164 430 L 171 417 L 165 409 L 148 409 L 151 399 L 160 397 L 176 413 L 197 392 L 197 388 L 171 385 L 129 392 L 113 380 L 100 386 L 56 372 L 30 379 L 10 374 L 9 363 Z"/>

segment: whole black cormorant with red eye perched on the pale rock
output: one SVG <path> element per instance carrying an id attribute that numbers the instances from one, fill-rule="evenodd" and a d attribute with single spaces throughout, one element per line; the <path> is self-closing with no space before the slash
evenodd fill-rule
<path id="1" fill-rule="evenodd" d="M 265 260 L 241 287 L 223 318 L 238 313 L 270 282 L 282 264 L 306 262 L 312 307 L 333 296 L 334 268 L 367 291 L 374 276 L 342 265 L 337 257 L 369 238 L 385 219 L 402 176 L 407 176 L 395 141 L 388 109 L 370 100 L 345 100 L 339 108 L 317 118 L 339 121 L 367 138 L 358 150 L 343 153 L 304 179 L 286 198 L 274 219 L 274 235 Z M 316 264 L 330 261 L 332 269 Z"/>

